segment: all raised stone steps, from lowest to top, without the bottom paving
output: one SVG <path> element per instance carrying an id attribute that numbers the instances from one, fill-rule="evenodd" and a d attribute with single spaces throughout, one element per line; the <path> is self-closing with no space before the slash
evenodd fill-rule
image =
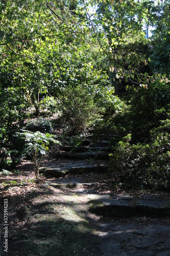
<path id="1" fill-rule="evenodd" d="M 79 188 L 85 186 L 84 192 L 89 200 L 89 211 L 106 217 L 165 217 L 170 216 L 170 201 L 156 196 L 143 196 L 141 198 L 131 196 L 117 196 L 113 193 L 99 194 L 91 190 L 91 180 L 83 182 L 81 177 L 72 178 L 75 175 L 83 174 L 104 174 L 108 172 L 108 165 L 93 163 L 95 160 L 105 160 L 109 162 L 111 147 L 109 140 L 98 140 L 92 142 L 89 138 L 82 139 L 79 146 L 72 147 L 64 145 L 59 148 L 55 154 L 56 159 L 63 159 L 62 164 L 44 166 L 40 172 L 46 172 L 48 175 L 56 178 L 50 182 L 51 186 L 58 188 Z M 64 162 L 67 159 L 68 162 Z M 86 160 L 86 161 L 84 161 Z M 69 179 L 64 179 L 65 176 Z M 61 179 L 62 178 L 62 179 Z M 89 188 L 89 189 L 88 189 Z M 77 190 L 79 193 L 79 190 Z"/>

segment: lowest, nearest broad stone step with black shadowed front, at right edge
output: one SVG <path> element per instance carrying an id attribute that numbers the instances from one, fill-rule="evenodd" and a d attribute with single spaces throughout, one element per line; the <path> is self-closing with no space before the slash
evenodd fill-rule
<path id="1" fill-rule="evenodd" d="M 165 217 L 170 216 L 170 201 L 156 198 L 148 200 L 143 198 L 118 197 L 98 198 L 89 201 L 89 211 L 108 217 Z"/>

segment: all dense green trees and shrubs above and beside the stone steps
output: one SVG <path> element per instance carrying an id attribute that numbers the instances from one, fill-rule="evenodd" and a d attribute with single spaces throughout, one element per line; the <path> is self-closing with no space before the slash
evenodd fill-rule
<path id="1" fill-rule="evenodd" d="M 43 117 L 58 113 L 71 135 L 116 135 L 115 186 L 168 189 L 169 5 L 0 1 L 0 168 L 19 161 L 20 129 L 55 133 Z"/>

